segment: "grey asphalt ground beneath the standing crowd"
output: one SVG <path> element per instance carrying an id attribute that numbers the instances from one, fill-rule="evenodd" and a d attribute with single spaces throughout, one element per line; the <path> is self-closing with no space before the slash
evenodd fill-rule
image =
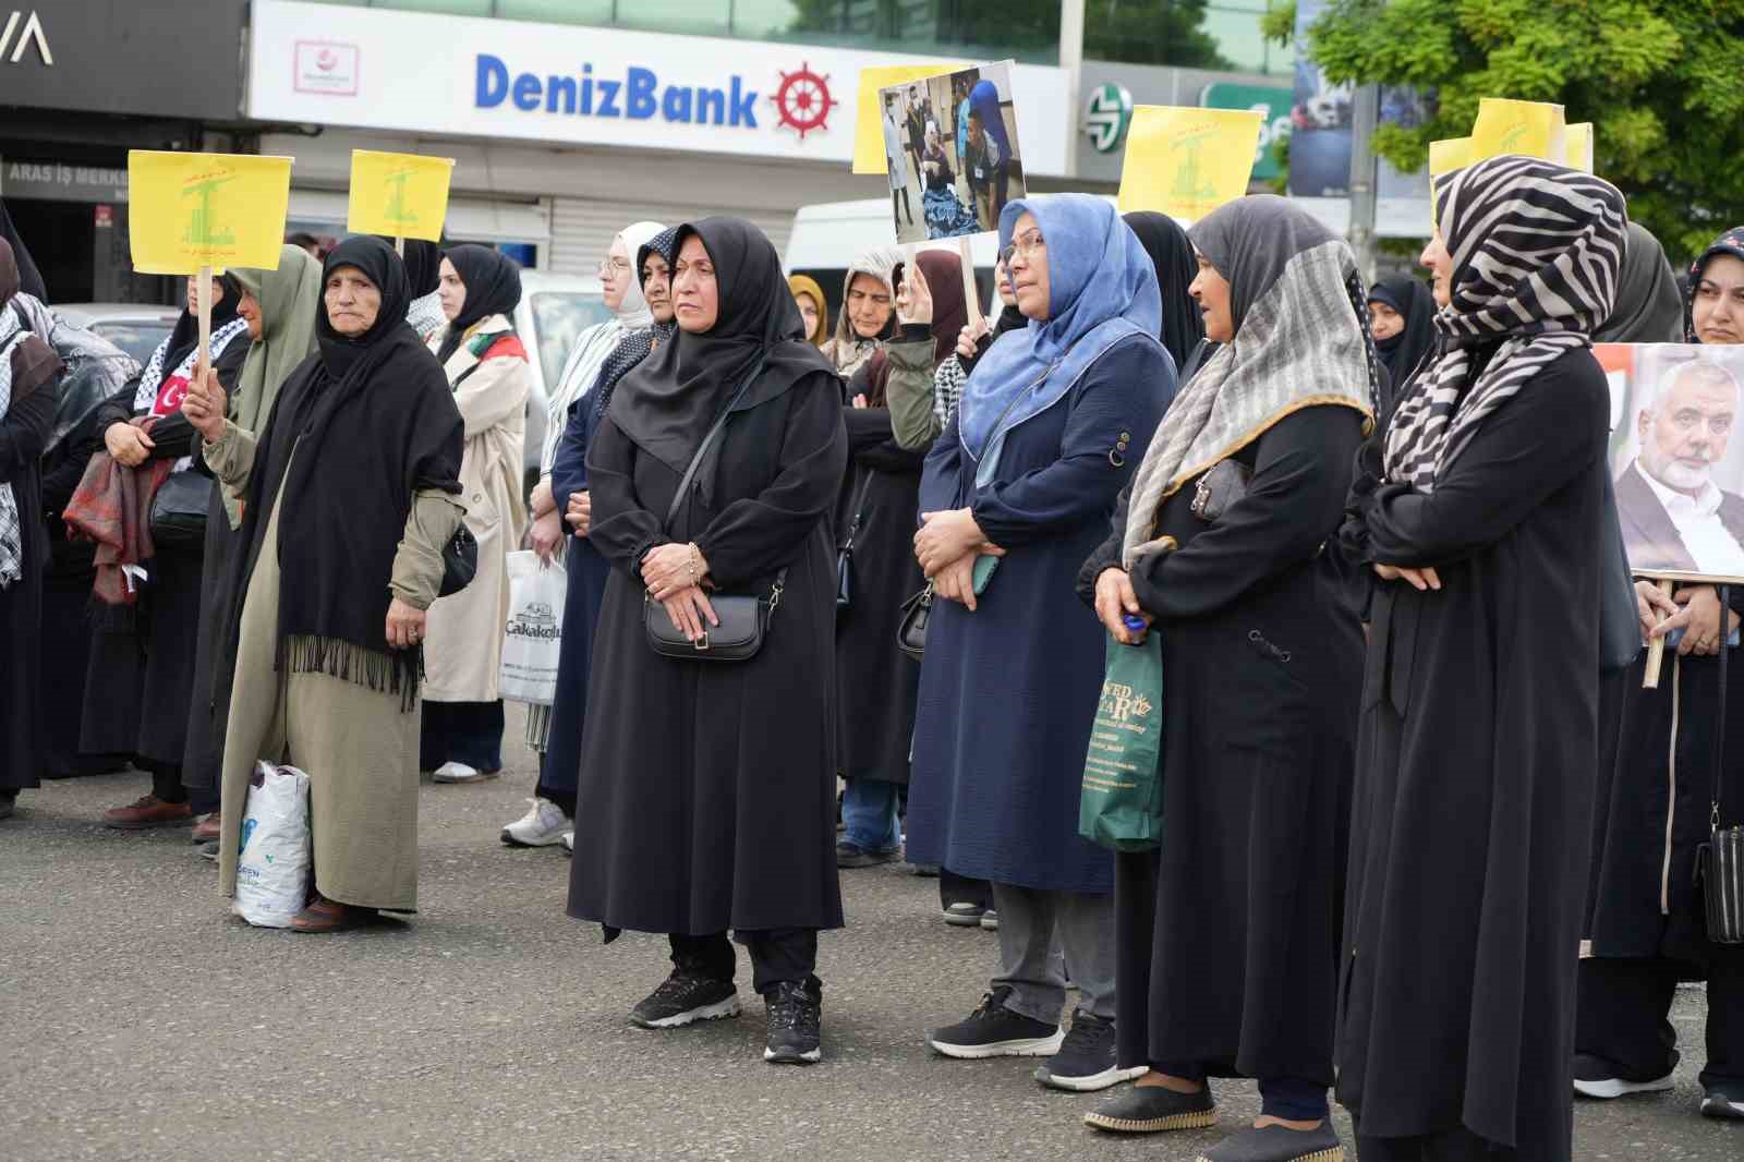
<path id="1" fill-rule="evenodd" d="M 228 918 L 185 830 L 94 824 L 143 775 L 24 792 L 0 824 L 0 1159 L 1191 1162 L 1223 1132 L 1102 1138 L 1080 1124 L 1097 1097 L 1043 1090 L 1031 1061 L 931 1056 L 923 1028 L 975 1005 L 996 937 L 947 928 L 937 883 L 898 867 L 844 872 L 825 1064 L 762 1064 L 755 1000 L 633 1029 L 664 944 L 603 947 L 563 918 L 569 860 L 497 841 L 530 771 L 514 747 L 501 782 L 424 787 L 424 911 L 331 937 Z M 1744 1159 L 1744 1125 L 1693 1113 L 1700 1015 L 1681 995 L 1678 1090 L 1580 1106 L 1577 1157 Z M 1252 1085 L 1217 1096 L 1223 1125 L 1256 1111 Z"/>

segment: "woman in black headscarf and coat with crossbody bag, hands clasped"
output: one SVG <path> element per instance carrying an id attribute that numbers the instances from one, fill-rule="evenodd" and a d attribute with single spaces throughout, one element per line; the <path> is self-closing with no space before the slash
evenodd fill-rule
<path id="1" fill-rule="evenodd" d="M 818 930 L 842 925 L 827 778 L 842 386 L 806 342 L 757 227 L 680 227 L 673 274 L 678 335 L 617 386 L 588 454 L 588 537 L 614 572 L 595 637 L 569 914 L 609 935 L 670 933 L 675 968 L 631 1014 L 644 1028 L 738 1012 L 734 930 L 767 1003 L 764 1057 L 818 1061 Z M 696 483 L 678 496 L 699 450 Z M 720 593 L 767 602 L 757 656 L 677 661 L 651 649 L 647 602 L 703 651 Z"/>

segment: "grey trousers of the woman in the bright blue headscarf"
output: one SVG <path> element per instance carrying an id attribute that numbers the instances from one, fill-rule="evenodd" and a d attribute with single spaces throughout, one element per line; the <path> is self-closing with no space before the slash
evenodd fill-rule
<path id="1" fill-rule="evenodd" d="M 999 972 L 1005 1007 L 1034 1021 L 1060 1022 L 1066 974 L 1080 1008 L 1114 1019 L 1114 897 L 992 885 L 999 913 Z M 1062 956 L 1064 953 L 1064 956 Z"/>

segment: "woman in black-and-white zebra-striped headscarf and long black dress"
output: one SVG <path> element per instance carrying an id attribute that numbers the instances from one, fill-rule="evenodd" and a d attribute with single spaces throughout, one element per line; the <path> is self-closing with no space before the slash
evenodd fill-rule
<path id="1" fill-rule="evenodd" d="M 1610 518 L 1589 335 L 1627 218 L 1517 155 L 1444 178 L 1435 211 L 1439 354 L 1364 447 L 1341 534 L 1376 584 L 1338 1096 L 1362 1162 L 1566 1162 Z"/>

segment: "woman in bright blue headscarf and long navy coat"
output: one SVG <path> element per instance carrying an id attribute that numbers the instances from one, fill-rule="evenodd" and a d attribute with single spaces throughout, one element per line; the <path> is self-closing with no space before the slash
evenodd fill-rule
<path id="1" fill-rule="evenodd" d="M 1114 862 L 1078 837 L 1104 635 L 1073 579 L 1175 368 L 1156 340 L 1156 270 L 1106 201 L 1012 202 L 999 241 L 1029 323 L 975 365 L 921 476 L 916 557 L 938 600 L 909 787 L 909 858 L 992 881 L 999 968 L 982 1005 L 928 1043 L 949 1057 L 1052 1054 L 1038 1080 L 1088 1090 L 1123 1075 Z M 1055 944 L 1081 991 L 1069 1036 Z"/>

